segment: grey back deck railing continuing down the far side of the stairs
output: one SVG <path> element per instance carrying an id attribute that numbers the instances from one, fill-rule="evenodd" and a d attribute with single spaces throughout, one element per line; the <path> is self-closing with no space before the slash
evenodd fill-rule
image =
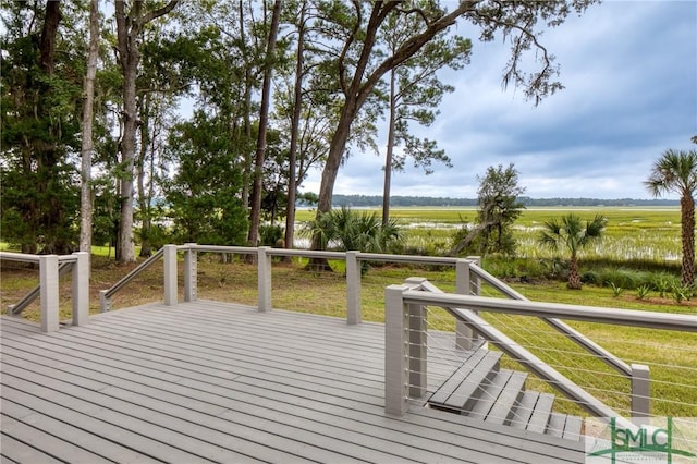
<path id="1" fill-rule="evenodd" d="M 488 312 L 492 314 L 505 314 L 514 313 L 510 308 L 526 308 L 524 313 L 528 316 L 536 316 L 541 318 L 546 323 L 551 326 L 554 330 L 562 333 L 563 337 L 573 341 L 582 346 L 585 351 L 590 353 L 587 356 L 594 356 L 601 359 L 603 363 L 612 366 L 616 369 L 622 377 L 631 380 L 631 395 L 632 405 L 628 408 L 632 416 L 646 416 L 649 414 L 649 371 L 647 364 L 641 363 L 627 363 L 620 357 L 613 355 L 608 350 L 600 346 L 595 341 L 579 333 L 579 331 L 573 329 L 566 322 L 561 320 L 561 315 L 567 316 L 566 313 L 560 313 L 560 308 L 564 305 L 539 304 L 528 302 L 523 295 L 515 290 L 508 286 L 504 282 L 496 279 L 484 269 L 478 266 L 478 257 L 469 257 L 466 259 L 453 258 L 453 257 L 429 257 L 429 256 L 408 256 L 408 255 L 387 255 L 387 254 L 374 254 L 362 252 L 320 252 L 320 251 L 306 251 L 306 249 L 285 249 L 285 248 L 270 248 L 270 247 L 241 247 L 241 246 L 218 246 L 218 245 L 198 245 L 194 243 L 185 245 L 166 245 L 151 258 L 142 264 L 138 268 L 131 271 L 127 276 L 121 279 L 111 289 L 102 291 L 101 296 L 101 310 L 109 310 L 111 306 L 111 297 L 135 278 L 145 268 L 152 266 L 160 258 L 163 258 L 163 301 L 167 305 L 175 305 L 180 295 L 178 285 L 178 266 L 181 265 L 179 255 L 183 254 L 183 298 L 185 302 L 195 301 L 198 297 L 197 292 L 197 262 L 198 253 L 220 253 L 220 254 L 236 254 L 236 255 L 253 255 L 257 264 L 257 306 L 260 312 L 271 310 L 272 306 L 272 272 L 271 262 L 274 257 L 303 257 L 303 258 L 322 258 L 330 260 L 344 260 L 346 264 L 346 321 L 347 323 L 359 323 L 362 321 L 362 307 L 360 307 L 360 286 L 362 286 L 362 262 L 363 261 L 382 261 L 382 262 L 402 262 L 402 264 L 416 264 L 416 265 L 436 265 L 436 266 L 451 266 L 455 268 L 455 292 L 457 295 L 429 295 L 431 300 L 430 304 L 436 304 L 438 298 L 448 297 L 462 297 L 469 298 L 464 301 L 456 300 L 457 304 L 445 304 L 443 307 L 450 308 L 451 313 L 455 316 L 455 345 L 458 349 L 474 349 L 481 346 L 486 341 L 492 341 L 491 333 L 486 328 L 479 327 L 473 322 L 476 319 L 476 313 L 478 310 Z M 7 254 L 5 254 L 7 255 Z M 21 255 L 25 256 L 25 255 Z M 32 258 L 34 259 L 34 258 Z M 37 258 L 38 259 L 38 258 Z M 490 292 L 490 289 L 494 289 L 497 292 L 503 294 L 508 298 L 478 298 L 478 295 L 486 289 Z M 411 296 L 409 296 L 411 297 Z M 478 300 L 472 300 L 478 298 Z M 463 304 L 466 302 L 466 305 Z M 476 304 L 475 304 L 476 303 Z M 460 306 L 458 306 L 460 305 Z M 529 306 L 526 306 L 529 305 Z M 547 305 L 547 306 L 546 306 Z M 468 317 L 463 317 L 464 313 L 458 313 L 457 308 L 465 307 Z M 454 308 L 454 309 L 453 309 Z M 530 309 L 533 308 L 533 309 Z M 547 310 L 545 310 L 547 308 Z M 587 308 L 578 306 L 577 314 L 570 319 L 577 318 L 578 320 L 594 320 L 603 322 L 603 319 L 591 318 L 584 319 L 582 316 L 587 314 Z M 611 312 L 612 313 L 612 312 Z M 594 314 L 595 313 L 590 313 Z M 612 313 L 615 314 L 615 313 Z M 617 310 L 615 316 L 621 320 L 621 323 L 626 323 L 627 315 L 626 310 Z M 651 319 L 651 313 L 641 313 L 646 320 L 653 321 Z M 659 315 L 658 318 L 662 319 L 663 315 Z M 595 317 L 595 316 L 594 316 Z M 473 319 L 474 318 L 474 319 Z M 566 318 L 566 317 L 564 317 Z M 687 316 L 683 316 L 682 319 L 697 320 L 696 318 L 689 319 Z M 671 318 L 669 317 L 669 320 Z M 681 317 L 678 317 L 681 319 Z M 48 318 L 46 318 L 48 320 Z M 644 320 L 644 319 L 643 319 Z M 649 323 L 649 322 L 645 322 Z M 655 323 L 651 322 L 651 323 Z M 643 326 L 643 327 L 656 327 L 656 326 Z M 693 327 L 693 326 L 690 326 Z M 694 327 L 690 329 L 694 330 Z M 482 339 L 480 334 L 486 337 Z M 496 340 L 494 340 L 496 341 Z M 517 361 L 522 361 L 518 356 Z M 533 369 L 535 371 L 535 369 Z M 545 379 L 543 373 L 538 373 L 541 378 Z M 547 378 L 546 380 L 551 383 L 557 382 L 559 388 L 559 379 Z M 563 382 L 561 382 L 563 383 Z M 563 387 L 562 387 L 563 390 Z M 574 388 L 571 388 L 574 390 Z M 578 400 L 578 399 L 577 399 Z M 579 400 L 578 400 L 579 401 Z M 596 407 L 595 413 L 601 413 L 600 407 Z M 607 413 L 607 411 L 606 411 Z"/>

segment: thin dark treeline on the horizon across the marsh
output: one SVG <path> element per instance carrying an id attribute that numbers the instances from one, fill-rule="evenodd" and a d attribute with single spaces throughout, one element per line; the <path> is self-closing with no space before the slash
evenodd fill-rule
<path id="1" fill-rule="evenodd" d="M 527 207 L 534 206 L 680 206 L 676 199 L 599 199 L 599 198 L 519 198 Z M 332 205 L 350 207 L 380 207 L 380 195 L 333 195 Z M 390 205 L 400 206 L 477 206 L 476 198 L 449 198 L 427 196 L 392 196 Z"/>

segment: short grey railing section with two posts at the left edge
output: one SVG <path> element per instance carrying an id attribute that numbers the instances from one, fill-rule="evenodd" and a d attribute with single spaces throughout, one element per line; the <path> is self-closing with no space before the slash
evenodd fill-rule
<path id="1" fill-rule="evenodd" d="M 72 270 L 73 326 L 87 322 L 89 315 L 89 254 L 85 252 L 72 255 L 30 255 L 24 253 L 0 252 L 0 260 L 36 264 L 39 267 L 39 284 L 17 304 L 8 308 L 11 315 L 20 315 L 32 301 L 40 300 L 41 331 L 52 332 L 60 327 L 59 281 L 60 277 Z"/>

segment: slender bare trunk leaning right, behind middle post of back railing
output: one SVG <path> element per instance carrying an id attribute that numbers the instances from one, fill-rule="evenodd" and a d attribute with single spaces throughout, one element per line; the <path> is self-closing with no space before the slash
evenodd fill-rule
<path id="1" fill-rule="evenodd" d="M 271 74 L 276 53 L 276 39 L 279 32 L 282 0 L 273 3 L 271 28 L 266 48 L 266 63 L 264 66 L 264 86 L 261 88 L 261 108 L 259 110 L 259 134 L 257 151 L 254 160 L 254 186 L 252 188 L 252 211 L 249 212 L 249 234 L 247 243 L 256 246 L 259 240 L 259 221 L 261 218 L 261 194 L 264 193 L 264 159 L 266 157 L 266 134 L 269 125 L 269 100 L 271 98 Z"/>

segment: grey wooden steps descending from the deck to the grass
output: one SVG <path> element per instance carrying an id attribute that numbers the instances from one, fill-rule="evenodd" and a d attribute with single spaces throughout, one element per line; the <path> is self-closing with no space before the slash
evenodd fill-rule
<path id="1" fill-rule="evenodd" d="M 527 373 L 500 369 L 501 353 L 479 349 L 428 399 L 432 408 L 579 441 L 583 419 L 552 411 L 554 395 L 525 389 Z"/>

